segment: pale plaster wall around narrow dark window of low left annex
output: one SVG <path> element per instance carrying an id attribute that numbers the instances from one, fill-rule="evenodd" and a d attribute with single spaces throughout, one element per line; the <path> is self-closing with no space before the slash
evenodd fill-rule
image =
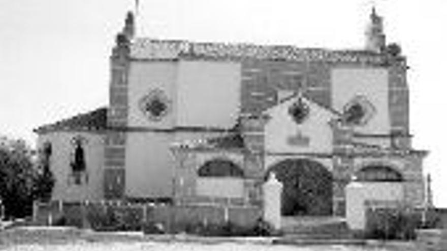
<path id="1" fill-rule="evenodd" d="M 88 183 L 82 185 L 69 183 L 70 162 L 74 153 L 72 139 L 75 136 L 86 139 L 83 146 Z M 87 132 L 50 132 L 39 135 L 38 149 L 42 148 L 46 141 L 51 143 L 50 168 L 56 179 L 52 199 L 63 201 L 103 199 L 104 135 Z"/>

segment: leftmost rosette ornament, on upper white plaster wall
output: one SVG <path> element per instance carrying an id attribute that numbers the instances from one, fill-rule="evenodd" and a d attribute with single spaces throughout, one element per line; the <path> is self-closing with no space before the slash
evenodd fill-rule
<path id="1" fill-rule="evenodd" d="M 170 110 L 170 101 L 162 90 L 152 90 L 140 99 L 140 110 L 152 121 L 159 121 Z"/>

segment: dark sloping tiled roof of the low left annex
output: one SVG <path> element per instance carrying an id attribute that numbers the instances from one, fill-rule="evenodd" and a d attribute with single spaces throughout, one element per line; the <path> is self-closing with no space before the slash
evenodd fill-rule
<path id="1" fill-rule="evenodd" d="M 79 114 L 77 116 L 57 121 L 53 124 L 43 125 L 36 128 L 37 133 L 59 130 L 103 130 L 107 128 L 107 108 L 101 107 L 97 110 Z"/>

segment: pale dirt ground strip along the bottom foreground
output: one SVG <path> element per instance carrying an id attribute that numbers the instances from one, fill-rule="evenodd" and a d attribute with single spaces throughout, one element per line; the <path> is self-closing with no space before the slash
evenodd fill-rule
<path id="1" fill-rule="evenodd" d="M 411 243 L 382 245 L 274 245 L 269 238 L 189 238 L 141 233 L 97 233 L 70 228 L 17 228 L 0 232 L 0 250 L 166 251 L 417 251 Z M 418 250 L 420 251 L 420 250 Z"/>

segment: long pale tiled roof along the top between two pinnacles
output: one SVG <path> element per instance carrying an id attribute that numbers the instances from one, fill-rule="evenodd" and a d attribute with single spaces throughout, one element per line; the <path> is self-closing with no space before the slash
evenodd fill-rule
<path id="1" fill-rule="evenodd" d="M 169 60 L 178 58 L 218 58 L 287 61 L 375 62 L 384 57 L 366 50 L 328 50 L 286 45 L 254 45 L 237 43 L 198 43 L 184 40 L 137 38 L 131 44 L 134 59 Z"/>

